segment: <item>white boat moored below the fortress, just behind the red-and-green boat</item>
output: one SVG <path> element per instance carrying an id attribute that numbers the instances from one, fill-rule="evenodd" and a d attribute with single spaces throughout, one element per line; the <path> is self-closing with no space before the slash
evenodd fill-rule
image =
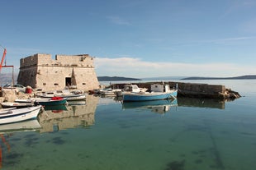
<path id="1" fill-rule="evenodd" d="M 67 98 L 67 101 L 86 99 L 86 94 L 77 93 L 76 91 L 70 92 L 69 90 L 49 91 L 42 94 L 37 94 L 37 96 L 40 98 L 61 97 L 61 98 Z"/>

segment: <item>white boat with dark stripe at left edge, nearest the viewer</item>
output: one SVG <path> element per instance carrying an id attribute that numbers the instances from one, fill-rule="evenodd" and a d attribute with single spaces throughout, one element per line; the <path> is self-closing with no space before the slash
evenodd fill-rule
<path id="1" fill-rule="evenodd" d="M 35 119 L 40 112 L 41 106 L 32 106 L 28 108 L 14 108 L 0 112 L 0 124 L 12 122 L 22 122 Z"/>

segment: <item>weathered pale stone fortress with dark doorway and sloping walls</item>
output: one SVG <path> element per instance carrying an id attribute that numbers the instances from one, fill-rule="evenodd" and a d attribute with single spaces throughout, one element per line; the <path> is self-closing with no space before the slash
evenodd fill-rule
<path id="1" fill-rule="evenodd" d="M 42 90 L 60 90 L 66 86 L 78 90 L 99 87 L 94 70 L 93 57 L 88 54 L 56 55 L 40 54 L 21 58 L 17 83 Z"/>

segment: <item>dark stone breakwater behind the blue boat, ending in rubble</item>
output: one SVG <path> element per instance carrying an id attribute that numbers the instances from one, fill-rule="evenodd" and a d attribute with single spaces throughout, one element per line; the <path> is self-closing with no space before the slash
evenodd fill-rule
<path id="1" fill-rule="evenodd" d="M 135 83 L 140 88 L 147 88 L 150 90 L 150 85 L 159 82 Z M 160 82 L 162 83 L 162 82 Z M 192 97 L 192 98 L 209 98 L 209 99 L 238 99 L 240 94 L 231 89 L 225 88 L 225 85 L 208 85 L 197 83 L 183 83 L 183 82 L 164 82 L 172 88 L 178 85 L 178 96 Z M 112 89 L 122 89 L 126 84 L 112 84 Z"/>

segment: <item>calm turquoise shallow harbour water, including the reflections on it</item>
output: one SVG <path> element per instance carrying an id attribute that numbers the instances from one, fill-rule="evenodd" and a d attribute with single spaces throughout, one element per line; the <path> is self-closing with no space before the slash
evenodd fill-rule
<path id="1" fill-rule="evenodd" d="M 3 135 L 2 169 L 253 170 L 256 81 L 216 83 L 244 97 L 178 99 L 165 111 L 92 98 L 64 112 L 45 111 L 39 130 Z"/>

